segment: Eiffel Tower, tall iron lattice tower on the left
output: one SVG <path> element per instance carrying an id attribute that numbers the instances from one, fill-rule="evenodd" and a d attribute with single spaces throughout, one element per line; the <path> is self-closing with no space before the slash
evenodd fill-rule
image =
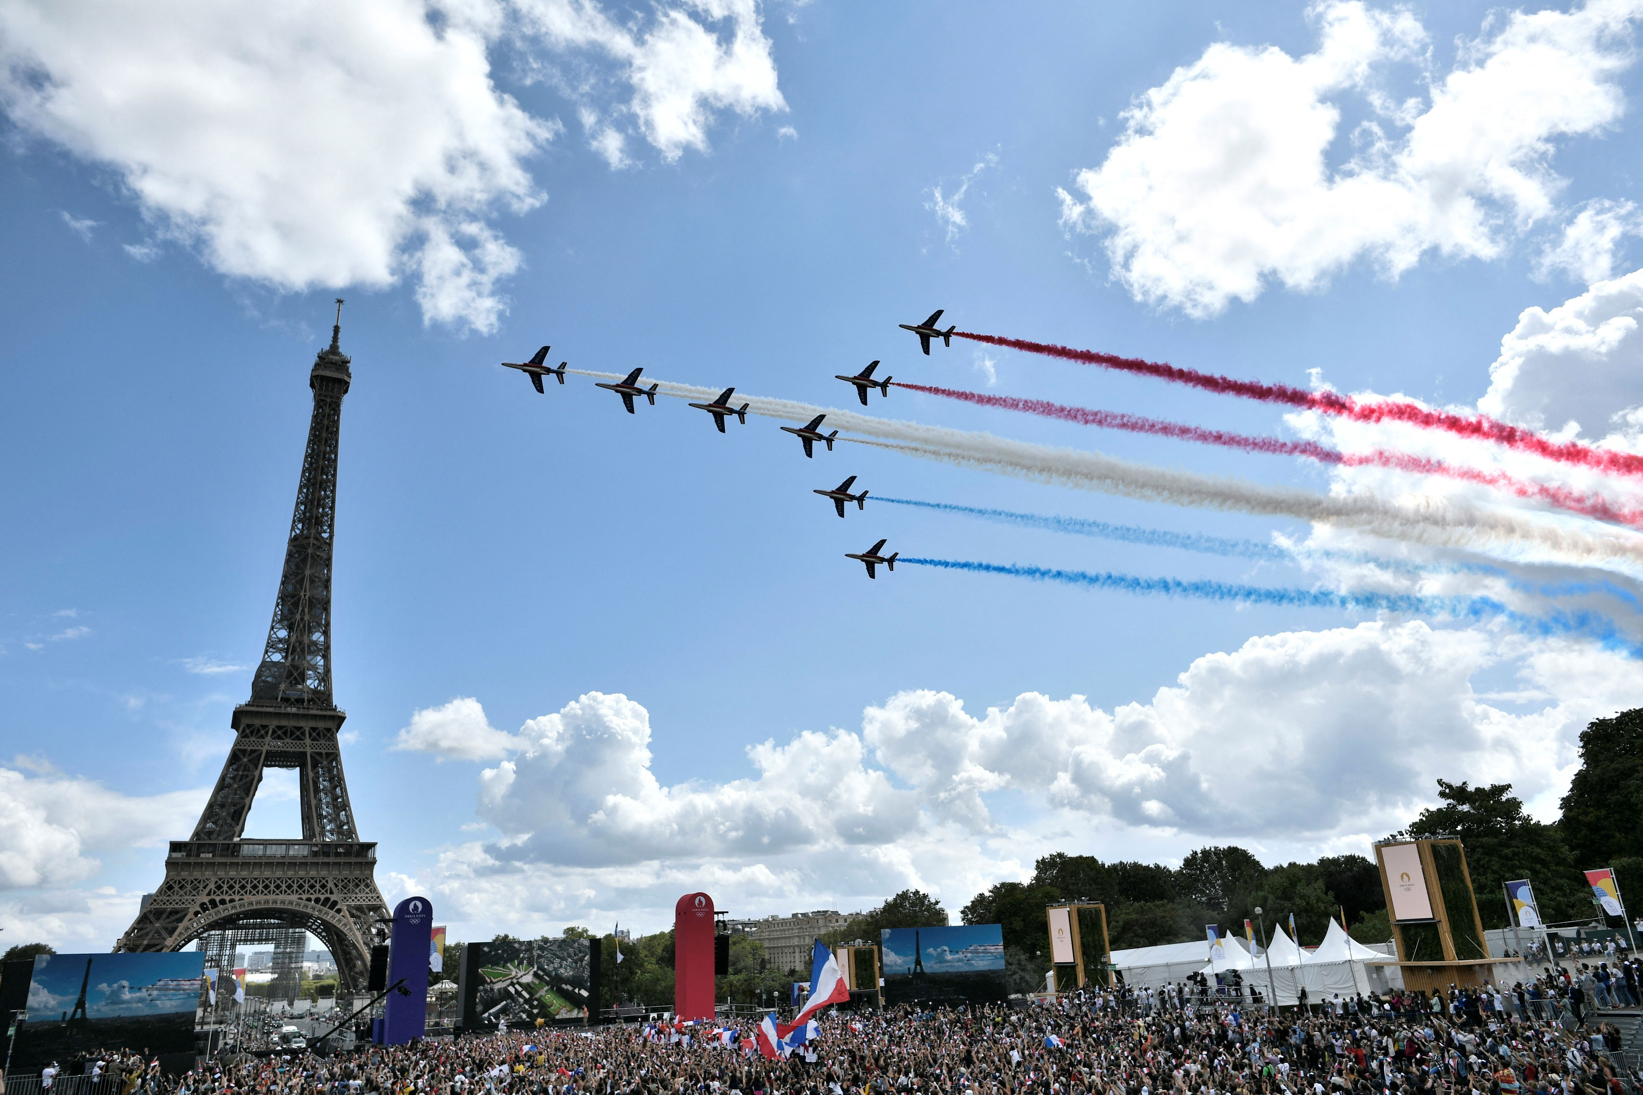
<path id="1" fill-rule="evenodd" d="M 181 951 L 223 932 L 276 942 L 314 932 L 337 960 L 337 996 L 365 992 L 371 944 L 388 908 L 376 888 L 376 844 L 360 841 L 342 777 L 337 731 L 347 717 L 330 696 L 330 558 L 337 515 L 337 435 L 348 392 L 342 300 L 330 346 L 309 374 L 314 415 L 251 699 L 233 709 L 233 749 L 194 836 L 173 841 L 166 878 L 115 951 Z M 245 819 L 265 768 L 296 768 L 302 837 L 246 841 Z M 265 939 L 266 937 L 266 939 Z M 232 951 L 230 951 L 232 954 Z"/>

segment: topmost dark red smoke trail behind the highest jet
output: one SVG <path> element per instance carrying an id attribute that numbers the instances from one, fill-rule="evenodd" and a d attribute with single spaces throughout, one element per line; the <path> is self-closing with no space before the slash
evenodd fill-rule
<path id="1" fill-rule="evenodd" d="M 1351 396 L 1341 396 L 1337 392 L 1311 392 L 1305 387 L 1293 387 L 1290 384 L 1236 381 L 1229 376 L 1214 376 L 1213 373 L 1199 373 L 1198 369 L 1183 369 L 1162 361 L 1121 358 L 1117 355 L 1098 353 L 1094 350 L 1073 350 L 1071 346 L 1027 341 L 1024 338 L 1001 338 L 997 335 L 974 335 L 971 332 L 953 333 L 958 338 L 984 341 L 989 346 L 1009 346 L 1010 350 L 1042 353 L 1052 358 L 1063 358 L 1066 361 L 1099 364 L 1107 369 L 1119 369 L 1121 373 L 1157 376 L 1158 379 L 1175 381 L 1176 384 L 1188 384 L 1191 387 L 1203 387 L 1204 391 L 1219 392 L 1222 396 L 1242 396 L 1244 399 L 1305 407 L 1308 410 L 1321 410 L 1324 414 L 1354 419 L 1357 422 L 1408 422 L 1410 425 L 1420 425 L 1429 430 L 1446 430 L 1457 437 L 1470 437 L 1475 440 L 1505 445 L 1507 448 L 1518 448 L 1566 465 L 1595 468 L 1597 471 L 1608 471 L 1613 474 L 1643 474 L 1643 456 L 1592 448 L 1590 445 L 1581 445 L 1577 442 L 1548 442 L 1533 430 L 1525 430 L 1521 427 L 1500 422 L 1498 419 L 1490 419 L 1489 415 L 1461 415 L 1447 410 L 1428 410 L 1426 407 L 1401 401 L 1359 402 Z"/>

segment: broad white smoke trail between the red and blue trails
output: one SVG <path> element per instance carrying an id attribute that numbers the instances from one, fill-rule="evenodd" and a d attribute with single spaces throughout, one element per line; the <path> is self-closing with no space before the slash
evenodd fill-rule
<path id="1" fill-rule="evenodd" d="M 613 373 L 568 371 L 600 379 L 623 379 Z M 657 384 L 659 394 L 675 399 L 708 402 L 718 396 L 718 389 L 713 387 L 644 381 L 646 387 L 649 384 Z M 823 430 L 838 428 L 864 435 L 841 440 L 1055 486 L 1173 506 L 1204 506 L 1347 525 L 1370 535 L 1431 547 L 1479 547 L 1513 542 L 1533 545 L 1572 561 L 1643 561 L 1643 537 L 1622 529 L 1599 527 L 1599 530 L 1589 532 L 1567 527 L 1569 522 L 1564 519 L 1553 519 L 1561 524 L 1551 524 L 1523 514 L 1482 511 L 1464 501 L 1431 494 L 1410 494 L 1397 501 L 1372 494 L 1316 494 L 1293 488 L 1263 486 L 1232 476 L 1206 476 L 1137 465 L 1091 450 L 1050 448 L 992 433 L 973 433 L 897 419 L 874 419 L 853 410 L 817 407 L 789 399 L 741 394 L 731 397 L 731 404 L 736 407 L 744 402 L 749 414 L 789 422 L 808 422 L 818 414 L 825 414 Z"/>

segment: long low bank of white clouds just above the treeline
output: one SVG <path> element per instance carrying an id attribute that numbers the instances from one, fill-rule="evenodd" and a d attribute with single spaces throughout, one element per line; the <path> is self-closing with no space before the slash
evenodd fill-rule
<path id="1" fill-rule="evenodd" d="M 1250 639 L 1112 709 L 1024 693 L 973 714 L 909 690 L 859 731 L 754 744 L 746 778 L 711 783 L 664 780 L 647 711 L 588 693 L 480 775 L 478 816 L 504 837 L 399 885 L 472 931 L 537 931 L 660 926 L 697 888 L 738 914 L 849 911 L 905 887 L 956 911 L 1052 850 L 1364 850 L 1434 801 L 1438 777 L 1554 798 L 1579 731 L 1638 696 L 1643 667 L 1587 644 L 1367 622 Z"/>

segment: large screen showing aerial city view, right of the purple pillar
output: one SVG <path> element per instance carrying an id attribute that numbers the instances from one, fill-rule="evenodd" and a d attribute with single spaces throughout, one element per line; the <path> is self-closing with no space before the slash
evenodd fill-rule
<path id="1" fill-rule="evenodd" d="M 462 1026 L 496 1029 L 582 1019 L 591 975 L 588 939 L 470 942 L 462 954 Z"/>

